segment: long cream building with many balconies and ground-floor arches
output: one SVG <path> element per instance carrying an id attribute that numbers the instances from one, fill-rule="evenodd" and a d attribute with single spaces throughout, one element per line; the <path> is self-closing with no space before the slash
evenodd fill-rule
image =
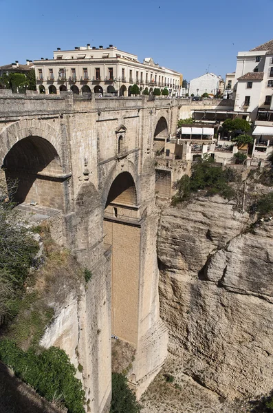
<path id="1" fill-rule="evenodd" d="M 36 83 L 41 93 L 72 90 L 75 94 L 94 92 L 130 96 L 136 83 L 140 93 L 155 87 L 166 87 L 171 96 L 179 94 L 182 75 L 154 63 L 151 57 L 138 61 L 135 54 L 122 52 L 115 46 L 75 47 L 54 52 L 54 59 L 34 61 Z"/>

